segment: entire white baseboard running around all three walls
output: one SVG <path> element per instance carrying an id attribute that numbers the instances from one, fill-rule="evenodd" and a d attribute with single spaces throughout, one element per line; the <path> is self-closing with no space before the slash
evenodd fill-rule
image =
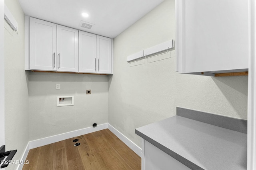
<path id="1" fill-rule="evenodd" d="M 100 130 L 103 130 L 103 129 L 109 129 L 123 143 L 125 143 L 130 149 L 132 149 L 136 154 L 138 154 L 138 156 L 140 156 L 140 157 L 142 156 L 142 150 L 141 150 L 140 147 L 138 147 L 135 143 L 133 143 L 130 139 L 128 139 L 126 136 L 124 136 L 122 133 L 120 133 L 117 129 L 115 129 L 109 123 L 104 123 L 104 124 L 98 125 L 97 127 L 87 127 L 87 128 L 79 129 L 79 130 L 76 130 L 76 131 L 62 133 L 62 134 L 59 134 L 59 135 L 54 135 L 54 136 L 51 136 L 51 137 L 37 139 L 37 140 L 34 140 L 34 141 L 29 141 L 28 145 L 26 146 L 26 149 L 24 150 L 24 152 L 22 154 L 22 159 L 21 160 L 24 160 L 24 161 L 26 160 L 26 158 L 28 156 L 28 152 L 29 152 L 30 149 L 34 149 L 34 148 L 37 148 L 37 147 L 42 147 L 44 145 L 49 145 L 51 143 L 63 141 L 63 140 L 66 140 L 66 139 L 70 139 L 72 137 L 85 135 L 85 134 L 100 131 Z M 17 170 L 22 170 L 22 168 L 23 168 L 23 164 L 19 164 Z"/>

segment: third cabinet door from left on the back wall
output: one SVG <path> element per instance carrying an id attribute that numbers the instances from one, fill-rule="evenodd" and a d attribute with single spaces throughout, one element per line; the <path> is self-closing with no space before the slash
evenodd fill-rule
<path id="1" fill-rule="evenodd" d="M 96 73 L 96 35 L 79 31 L 79 72 Z"/>

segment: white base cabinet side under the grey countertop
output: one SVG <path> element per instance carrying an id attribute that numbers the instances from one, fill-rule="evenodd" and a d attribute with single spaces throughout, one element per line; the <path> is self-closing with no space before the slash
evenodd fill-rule
<path id="1" fill-rule="evenodd" d="M 191 170 L 144 139 L 142 145 L 142 170 Z"/>

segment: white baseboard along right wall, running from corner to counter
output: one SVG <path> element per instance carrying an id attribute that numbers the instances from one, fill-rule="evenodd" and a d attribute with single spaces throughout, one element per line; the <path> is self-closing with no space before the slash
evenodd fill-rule
<path id="1" fill-rule="evenodd" d="M 132 149 L 138 156 L 142 156 L 142 150 L 135 143 L 133 143 L 130 139 L 120 133 L 117 129 L 115 129 L 112 125 L 108 123 L 108 129 L 114 133 L 123 143 L 125 143 L 130 149 Z"/>

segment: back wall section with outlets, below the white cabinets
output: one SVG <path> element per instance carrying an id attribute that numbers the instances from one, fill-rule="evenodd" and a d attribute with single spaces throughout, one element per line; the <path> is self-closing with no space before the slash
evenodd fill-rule
<path id="1" fill-rule="evenodd" d="M 92 94 L 86 95 L 88 89 Z M 57 107 L 57 96 L 74 96 L 74 106 Z M 30 72 L 29 141 L 92 127 L 95 122 L 108 122 L 107 75 Z"/>

